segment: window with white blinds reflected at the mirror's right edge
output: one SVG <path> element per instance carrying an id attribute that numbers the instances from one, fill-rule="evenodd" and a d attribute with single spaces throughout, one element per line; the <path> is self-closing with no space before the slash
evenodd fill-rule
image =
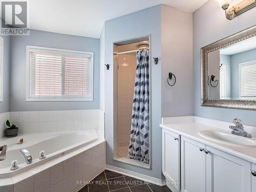
<path id="1" fill-rule="evenodd" d="M 239 64 L 240 97 L 256 98 L 256 61 Z"/>

